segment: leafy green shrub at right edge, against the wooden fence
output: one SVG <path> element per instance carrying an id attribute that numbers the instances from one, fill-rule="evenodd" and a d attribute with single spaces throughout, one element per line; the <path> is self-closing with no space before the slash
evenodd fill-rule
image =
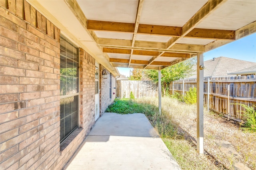
<path id="1" fill-rule="evenodd" d="M 244 129 L 247 129 L 252 132 L 256 132 L 256 111 L 254 108 L 256 108 L 255 105 L 247 106 L 245 104 L 236 104 L 244 107 L 245 111 L 240 110 L 242 112 L 242 115 L 245 118 L 244 123 Z"/>

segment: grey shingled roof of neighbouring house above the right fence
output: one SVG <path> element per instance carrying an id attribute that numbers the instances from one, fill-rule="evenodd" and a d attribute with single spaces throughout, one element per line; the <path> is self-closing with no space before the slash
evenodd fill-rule
<path id="1" fill-rule="evenodd" d="M 204 61 L 204 77 L 232 76 L 229 73 L 255 66 L 256 63 L 231 59 L 228 57 L 217 57 Z M 196 78 L 196 65 L 192 67 L 194 73 L 189 78 Z"/>

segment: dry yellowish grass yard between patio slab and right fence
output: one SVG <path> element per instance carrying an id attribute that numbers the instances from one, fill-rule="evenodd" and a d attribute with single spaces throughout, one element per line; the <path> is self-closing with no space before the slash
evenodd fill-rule
<path id="1" fill-rule="evenodd" d="M 158 106 L 158 99 L 137 99 L 136 102 Z M 172 137 L 164 137 L 163 141 L 182 169 L 232 170 L 234 162 L 242 162 L 256 170 L 256 133 L 240 131 L 234 121 L 227 121 L 205 110 L 206 154 L 199 155 L 196 152 L 196 106 L 180 103 L 173 98 L 162 98 L 162 114 L 174 125 L 171 130 L 177 131 L 176 136 L 172 134 Z M 216 145 L 217 140 L 230 142 L 242 157 L 224 154 Z"/>

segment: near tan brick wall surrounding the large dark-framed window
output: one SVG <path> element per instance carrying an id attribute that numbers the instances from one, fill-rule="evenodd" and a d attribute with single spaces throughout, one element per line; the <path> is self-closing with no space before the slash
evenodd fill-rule
<path id="1" fill-rule="evenodd" d="M 80 49 L 80 128 L 60 147 L 60 29 L 0 0 L 0 169 L 62 169 L 94 124 L 95 61 Z"/>

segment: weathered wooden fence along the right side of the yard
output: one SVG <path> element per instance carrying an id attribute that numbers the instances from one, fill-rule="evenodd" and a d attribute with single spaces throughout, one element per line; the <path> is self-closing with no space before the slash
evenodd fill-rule
<path id="1" fill-rule="evenodd" d="M 186 95 L 193 87 L 196 79 L 176 80 L 170 83 L 170 94 Z M 204 78 L 204 104 L 226 117 L 244 119 L 241 111 L 245 109 L 236 104 L 256 106 L 255 75 Z"/>

